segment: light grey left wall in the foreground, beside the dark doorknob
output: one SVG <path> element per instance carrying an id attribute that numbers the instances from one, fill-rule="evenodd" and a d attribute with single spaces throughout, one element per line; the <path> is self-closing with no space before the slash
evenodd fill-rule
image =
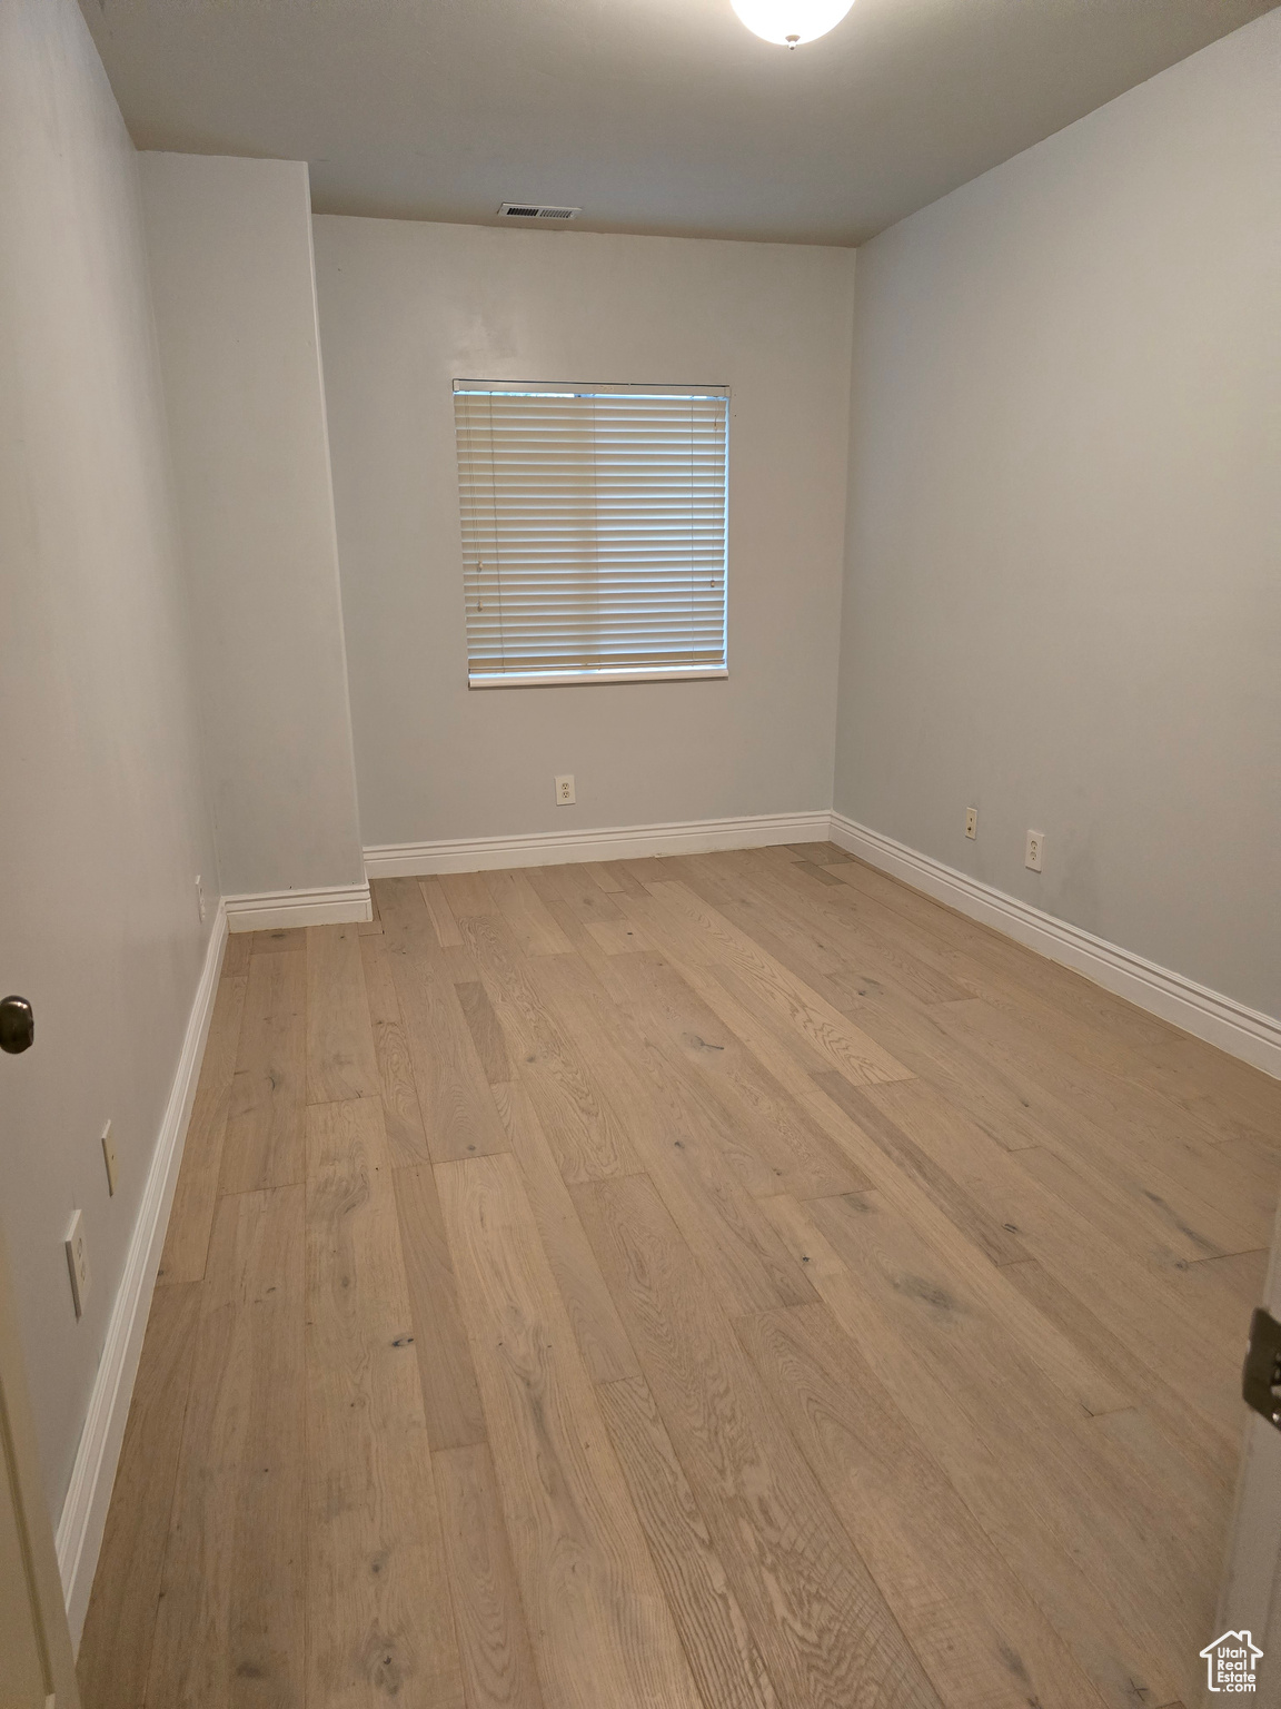
<path id="1" fill-rule="evenodd" d="M 184 631 L 133 147 L 73 0 L 3 0 L 0 991 L 36 1046 L 0 1056 L 0 1217 L 55 1519 L 203 959 L 198 872 L 217 896 Z"/>

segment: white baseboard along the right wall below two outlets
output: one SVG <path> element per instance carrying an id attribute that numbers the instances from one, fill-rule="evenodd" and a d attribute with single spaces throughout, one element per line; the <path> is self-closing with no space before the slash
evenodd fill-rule
<path id="1" fill-rule="evenodd" d="M 1040 907 L 1020 902 L 1018 897 L 1006 896 L 991 884 L 945 866 L 929 854 L 919 854 L 907 844 L 881 836 L 880 831 L 869 831 L 845 819 L 844 813 L 832 813 L 830 836 L 835 844 L 866 860 L 868 865 L 880 866 L 881 872 L 902 878 L 958 913 L 1004 931 L 1006 937 L 1027 943 L 1050 960 L 1062 962 L 1064 967 L 1073 967 L 1107 991 L 1160 1015 L 1161 1020 L 1281 1078 L 1281 1020 L 1276 1017 L 1247 1008 L 1221 991 L 1211 991 L 1180 972 L 1068 925 L 1066 919 L 1056 919 L 1054 914 L 1045 914 Z"/>

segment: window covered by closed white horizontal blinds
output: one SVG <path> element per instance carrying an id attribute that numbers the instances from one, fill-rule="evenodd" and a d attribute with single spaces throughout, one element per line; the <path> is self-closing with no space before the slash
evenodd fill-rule
<path id="1" fill-rule="evenodd" d="M 726 675 L 724 386 L 454 381 L 468 684 Z"/>

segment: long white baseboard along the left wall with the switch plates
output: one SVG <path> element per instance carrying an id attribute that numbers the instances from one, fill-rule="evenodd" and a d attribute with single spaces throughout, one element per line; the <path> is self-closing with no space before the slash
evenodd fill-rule
<path id="1" fill-rule="evenodd" d="M 72 1627 L 72 1644 L 77 1649 L 89 1610 L 97 1552 L 102 1547 L 111 1485 L 116 1480 L 125 1420 L 133 1396 L 133 1379 L 138 1372 L 142 1336 L 150 1313 L 155 1271 L 161 1266 L 164 1230 L 169 1224 L 169 1207 L 178 1184 L 178 1166 L 183 1160 L 183 1142 L 196 1095 L 200 1060 L 205 1054 L 205 1037 L 214 1013 L 225 942 L 227 913 L 219 902 L 205 948 L 205 966 L 186 1022 L 178 1072 L 147 1171 L 147 1184 L 142 1189 L 133 1236 L 125 1254 L 125 1271 L 116 1290 L 116 1302 L 111 1307 L 102 1359 L 97 1365 L 80 1446 L 72 1466 L 72 1482 L 58 1519 L 58 1571 L 67 1600 L 67 1618 Z"/>

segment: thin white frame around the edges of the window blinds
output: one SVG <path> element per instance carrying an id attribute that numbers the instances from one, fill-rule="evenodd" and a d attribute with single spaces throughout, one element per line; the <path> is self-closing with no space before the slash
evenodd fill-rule
<path id="1" fill-rule="evenodd" d="M 565 670 L 511 670 L 511 672 L 473 672 L 471 639 L 466 625 L 466 596 L 463 610 L 463 651 L 468 689 L 553 689 L 553 687 L 588 687 L 627 682 L 716 682 L 729 677 L 729 415 L 731 388 L 726 385 L 690 385 L 690 383 L 589 383 L 589 381 L 521 381 L 521 379 L 463 379 L 451 386 L 451 403 L 459 393 L 465 395 L 514 395 L 514 396 L 651 396 L 651 398 L 700 398 L 724 402 L 724 557 L 721 561 L 721 661 L 697 665 L 582 665 Z M 454 405 L 456 408 L 456 405 Z M 458 417 L 454 414 L 454 460 L 456 490 L 461 487 L 461 443 Z M 459 516 L 461 533 L 461 516 Z M 468 573 L 466 538 L 461 537 L 463 576 Z"/>

